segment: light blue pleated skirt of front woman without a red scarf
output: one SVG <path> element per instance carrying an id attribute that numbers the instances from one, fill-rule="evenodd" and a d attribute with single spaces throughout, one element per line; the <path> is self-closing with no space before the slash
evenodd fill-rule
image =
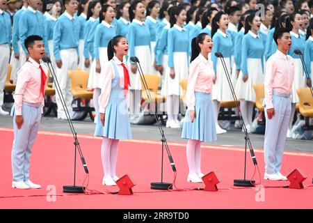
<path id="1" fill-rule="evenodd" d="M 182 138 L 204 142 L 216 140 L 211 93 L 195 91 L 195 119 L 191 123 L 189 110 L 187 109 L 182 129 Z"/>

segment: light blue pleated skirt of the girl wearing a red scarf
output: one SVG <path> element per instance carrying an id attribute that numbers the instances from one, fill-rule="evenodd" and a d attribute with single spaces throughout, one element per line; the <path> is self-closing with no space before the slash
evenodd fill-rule
<path id="1" fill-rule="evenodd" d="M 110 98 L 106 106 L 104 126 L 100 115 L 96 115 L 95 128 L 96 137 L 107 137 L 109 139 L 131 139 L 131 125 L 126 100 Z"/>

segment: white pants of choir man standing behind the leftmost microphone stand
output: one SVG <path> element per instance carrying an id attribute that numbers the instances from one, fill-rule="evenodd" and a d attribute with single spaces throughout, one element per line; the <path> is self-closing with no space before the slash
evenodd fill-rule
<path id="1" fill-rule="evenodd" d="M 71 82 L 68 75 L 69 70 L 77 69 L 78 56 L 76 49 L 63 49 L 60 51 L 62 67 L 56 68 L 56 78 L 61 88 L 65 104 L 69 112 L 72 104 Z M 58 117 L 65 116 L 65 111 L 62 107 L 60 95 L 56 92 L 56 105 L 58 105 Z"/>

